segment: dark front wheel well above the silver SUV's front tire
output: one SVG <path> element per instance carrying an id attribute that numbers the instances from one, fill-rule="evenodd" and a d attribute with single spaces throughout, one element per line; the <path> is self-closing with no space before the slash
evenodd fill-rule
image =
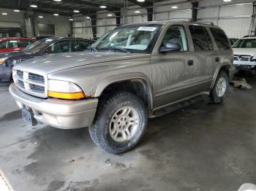
<path id="1" fill-rule="evenodd" d="M 104 97 L 108 98 L 116 92 L 126 91 L 138 95 L 138 97 L 143 101 L 146 109 L 151 109 L 152 107 L 152 97 L 151 97 L 151 87 L 147 85 L 143 79 L 129 79 L 121 82 L 114 82 L 113 84 L 105 87 L 105 90 L 99 96 L 99 100 Z"/>

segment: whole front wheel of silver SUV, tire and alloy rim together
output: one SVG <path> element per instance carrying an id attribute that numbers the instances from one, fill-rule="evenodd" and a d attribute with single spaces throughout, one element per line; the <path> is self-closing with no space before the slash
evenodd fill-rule
<path id="1" fill-rule="evenodd" d="M 146 132 L 147 120 L 146 106 L 138 96 L 116 93 L 99 102 L 89 133 L 94 144 L 118 154 L 138 144 Z"/>

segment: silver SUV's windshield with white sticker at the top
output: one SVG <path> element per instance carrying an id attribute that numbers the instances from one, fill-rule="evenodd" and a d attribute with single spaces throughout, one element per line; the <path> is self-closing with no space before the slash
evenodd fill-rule
<path id="1" fill-rule="evenodd" d="M 91 45 L 97 50 L 128 50 L 133 52 L 148 52 L 151 42 L 156 38 L 161 25 L 123 26 L 109 31 L 97 42 Z"/>

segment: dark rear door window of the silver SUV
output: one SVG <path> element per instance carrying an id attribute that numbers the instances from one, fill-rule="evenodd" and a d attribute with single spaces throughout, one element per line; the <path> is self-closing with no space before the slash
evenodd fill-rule
<path id="1" fill-rule="evenodd" d="M 195 51 L 213 50 L 213 45 L 203 26 L 189 26 Z"/>

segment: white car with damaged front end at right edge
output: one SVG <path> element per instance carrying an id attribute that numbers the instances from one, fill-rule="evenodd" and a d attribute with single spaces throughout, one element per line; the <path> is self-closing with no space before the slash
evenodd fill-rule
<path id="1" fill-rule="evenodd" d="M 256 69 L 256 36 L 248 36 L 239 39 L 233 45 L 233 65 L 238 70 Z"/>

